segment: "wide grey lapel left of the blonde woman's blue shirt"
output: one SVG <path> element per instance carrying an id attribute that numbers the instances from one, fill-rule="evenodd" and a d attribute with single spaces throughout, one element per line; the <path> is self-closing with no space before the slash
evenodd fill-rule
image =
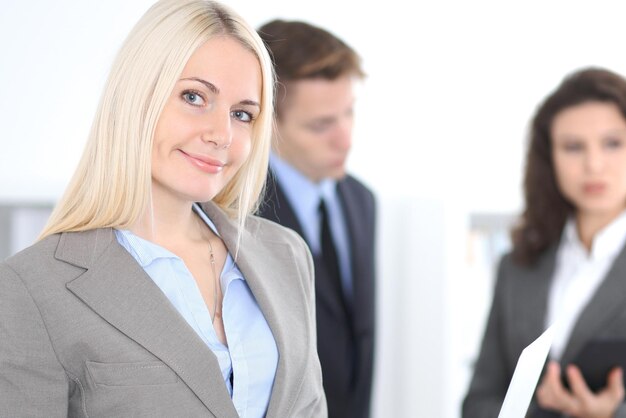
<path id="1" fill-rule="evenodd" d="M 87 269 L 67 288 L 105 321 L 174 370 L 219 417 L 237 417 L 215 355 L 180 316 L 112 229 L 65 233 L 56 257 Z"/>

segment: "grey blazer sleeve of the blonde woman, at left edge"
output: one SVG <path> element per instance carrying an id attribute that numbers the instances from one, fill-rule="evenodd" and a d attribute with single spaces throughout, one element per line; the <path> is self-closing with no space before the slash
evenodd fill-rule
<path id="1" fill-rule="evenodd" d="M 0 264 L 0 416 L 67 417 L 68 394 L 38 306 L 18 274 Z"/>

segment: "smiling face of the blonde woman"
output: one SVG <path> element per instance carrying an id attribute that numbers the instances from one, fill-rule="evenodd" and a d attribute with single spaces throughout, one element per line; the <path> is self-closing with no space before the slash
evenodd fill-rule
<path id="1" fill-rule="evenodd" d="M 233 178 L 250 153 L 261 77 L 256 56 L 232 38 L 198 48 L 157 123 L 155 197 L 208 201 Z"/>

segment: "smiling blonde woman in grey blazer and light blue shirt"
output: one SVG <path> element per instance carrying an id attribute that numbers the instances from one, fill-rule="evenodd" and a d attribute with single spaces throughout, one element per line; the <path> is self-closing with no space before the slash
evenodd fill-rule
<path id="1" fill-rule="evenodd" d="M 141 18 L 40 241 L 0 264 L 0 416 L 326 416 L 311 256 L 250 215 L 273 77 L 218 3 Z"/>

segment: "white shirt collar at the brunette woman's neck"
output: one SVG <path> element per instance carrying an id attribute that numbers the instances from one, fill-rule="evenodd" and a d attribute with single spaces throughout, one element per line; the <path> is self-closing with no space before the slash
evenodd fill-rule
<path id="1" fill-rule="evenodd" d="M 576 251 L 587 251 L 580 241 L 576 221 L 574 217 L 570 217 L 565 224 L 563 230 L 563 239 L 565 245 Z M 626 211 L 623 211 L 610 224 L 602 228 L 591 243 L 591 252 L 588 255 L 591 259 L 604 259 L 614 257 L 624 246 L 626 240 Z"/>

